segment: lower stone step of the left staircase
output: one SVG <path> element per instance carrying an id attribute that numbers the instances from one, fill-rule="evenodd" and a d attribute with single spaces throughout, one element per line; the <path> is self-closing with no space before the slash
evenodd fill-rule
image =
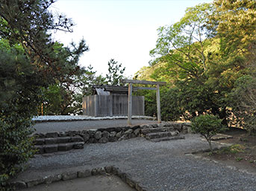
<path id="1" fill-rule="evenodd" d="M 37 154 L 52 153 L 59 151 L 69 151 L 71 149 L 83 149 L 84 141 L 71 142 L 71 143 L 57 143 L 57 144 L 46 144 L 46 145 L 35 145 Z"/>

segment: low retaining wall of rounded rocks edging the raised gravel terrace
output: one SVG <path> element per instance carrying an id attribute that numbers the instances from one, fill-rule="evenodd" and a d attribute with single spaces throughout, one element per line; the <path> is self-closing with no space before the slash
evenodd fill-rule
<path id="1" fill-rule="evenodd" d="M 79 136 L 84 139 L 84 143 L 107 143 L 134 137 L 143 137 L 141 129 L 169 126 L 172 126 L 175 130 L 183 134 L 190 132 L 190 123 L 160 123 L 140 126 L 110 127 L 105 129 L 88 129 L 83 131 L 36 133 L 34 136 L 38 138 Z"/>

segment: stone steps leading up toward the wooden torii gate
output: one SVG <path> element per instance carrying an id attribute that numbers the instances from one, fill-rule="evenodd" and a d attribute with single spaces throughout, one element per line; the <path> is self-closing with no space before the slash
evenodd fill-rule
<path id="1" fill-rule="evenodd" d="M 159 124 L 158 126 L 141 129 L 140 132 L 143 137 L 153 142 L 184 139 L 185 137 L 180 135 L 178 129 L 180 128 L 169 126 L 169 124 Z"/>

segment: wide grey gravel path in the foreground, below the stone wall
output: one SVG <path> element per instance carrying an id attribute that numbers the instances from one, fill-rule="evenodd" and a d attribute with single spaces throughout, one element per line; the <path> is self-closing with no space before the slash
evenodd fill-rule
<path id="1" fill-rule="evenodd" d="M 208 148 L 207 142 L 198 135 L 185 136 L 184 140 L 159 143 L 137 137 L 113 143 L 86 144 L 84 149 L 72 152 L 37 155 L 29 161 L 30 167 L 19 175 L 18 180 L 114 165 L 131 174 L 150 191 L 255 190 L 255 175 L 184 155 Z"/>

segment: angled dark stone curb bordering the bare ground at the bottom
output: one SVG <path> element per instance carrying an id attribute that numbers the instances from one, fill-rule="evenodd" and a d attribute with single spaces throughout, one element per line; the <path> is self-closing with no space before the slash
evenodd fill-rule
<path id="1" fill-rule="evenodd" d="M 57 181 L 67 181 L 73 180 L 75 178 L 87 178 L 93 175 L 116 175 L 122 179 L 131 188 L 137 191 L 147 191 L 148 188 L 143 186 L 143 184 L 134 181 L 130 174 L 122 172 L 116 166 L 105 166 L 97 167 L 95 169 L 83 169 L 78 171 L 63 172 L 57 175 L 47 175 L 43 178 L 37 178 L 29 181 L 13 181 L 10 182 L 10 186 L 14 187 L 14 190 L 25 189 L 28 187 L 34 187 L 40 184 L 51 184 Z"/>

